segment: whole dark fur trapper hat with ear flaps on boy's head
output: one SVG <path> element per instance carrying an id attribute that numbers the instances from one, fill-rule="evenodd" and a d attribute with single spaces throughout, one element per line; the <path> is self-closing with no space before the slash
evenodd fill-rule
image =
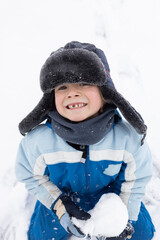
<path id="1" fill-rule="evenodd" d="M 20 132 L 25 135 L 47 118 L 54 108 L 55 87 L 78 82 L 99 86 L 104 99 L 118 107 L 139 134 L 146 135 L 147 127 L 141 115 L 115 89 L 103 51 L 93 44 L 77 41 L 52 52 L 42 66 L 40 86 L 44 94 L 38 105 L 20 122 Z"/>

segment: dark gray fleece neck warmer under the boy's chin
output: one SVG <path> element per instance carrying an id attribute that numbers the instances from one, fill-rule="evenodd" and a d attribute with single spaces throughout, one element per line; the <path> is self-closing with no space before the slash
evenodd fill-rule
<path id="1" fill-rule="evenodd" d="M 116 114 L 114 105 L 106 104 L 103 113 L 95 118 L 81 122 L 73 122 L 62 117 L 57 110 L 48 114 L 51 118 L 51 126 L 54 131 L 65 141 L 80 144 L 92 145 L 104 138 L 115 123 L 120 120 Z"/>

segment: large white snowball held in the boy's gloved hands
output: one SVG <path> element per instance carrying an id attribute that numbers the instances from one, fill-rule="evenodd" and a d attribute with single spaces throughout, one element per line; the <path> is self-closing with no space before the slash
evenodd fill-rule
<path id="1" fill-rule="evenodd" d="M 72 222 L 91 237 L 118 236 L 128 222 L 127 208 L 121 198 L 114 193 L 102 195 L 89 213 L 91 218 L 87 221 L 72 218 Z"/>

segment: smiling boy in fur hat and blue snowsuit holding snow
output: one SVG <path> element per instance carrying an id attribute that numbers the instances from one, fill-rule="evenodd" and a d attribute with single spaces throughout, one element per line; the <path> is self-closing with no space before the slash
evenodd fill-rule
<path id="1" fill-rule="evenodd" d="M 103 51 L 88 43 L 66 44 L 46 60 L 40 84 L 41 101 L 19 124 L 28 134 L 16 162 L 18 179 L 38 200 L 28 239 L 85 237 L 71 217 L 89 219 L 87 212 L 109 192 L 126 204 L 134 233 L 129 224 L 108 239 L 132 233 L 132 240 L 152 239 L 154 226 L 142 203 L 151 177 L 147 128 L 116 91 Z"/>

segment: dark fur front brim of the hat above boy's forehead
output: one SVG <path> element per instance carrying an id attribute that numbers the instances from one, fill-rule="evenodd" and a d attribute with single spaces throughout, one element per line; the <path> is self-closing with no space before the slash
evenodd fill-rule
<path id="1" fill-rule="evenodd" d="M 85 49 L 63 49 L 47 59 L 40 73 L 43 92 L 51 92 L 64 83 L 88 83 L 103 86 L 105 68 L 94 52 Z"/>

